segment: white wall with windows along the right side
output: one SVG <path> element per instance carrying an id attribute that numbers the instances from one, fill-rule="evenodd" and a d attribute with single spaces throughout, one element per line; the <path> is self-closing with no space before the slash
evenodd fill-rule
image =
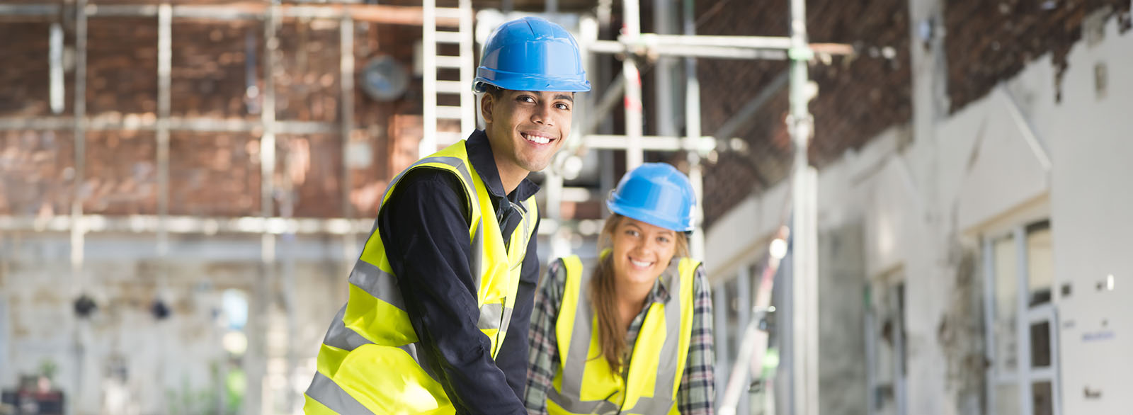
<path id="1" fill-rule="evenodd" d="M 934 8 L 931 0 L 911 0 L 912 22 Z M 1047 54 L 951 116 L 940 110 L 946 108 L 942 58 L 913 49 L 913 124 L 825 168 L 818 190 L 820 234 L 860 221 L 867 276 L 896 268 L 906 276 L 909 413 L 980 410 L 970 384 L 974 369 L 961 361 L 978 353 L 982 340 L 957 342 L 953 334 L 971 330 L 949 327 L 969 324 L 978 314 L 965 308 L 969 287 L 956 286 L 965 272 L 962 259 L 978 252 L 982 234 L 1023 225 L 1034 211 L 1053 223 L 1055 291 L 1067 282 L 1074 293 L 1055 297 L 1063 331 L 1063 414 L 1133 407 L 1133 396 L 1118 392 L 1119 384 L 1127 391 L 1128 382 L 1118 382 L 1133 372 L 1127 353 L 1133 344 L 1124 340 L 1133 329 L 1133 34 L 1118 34 L 1110 20 L 1101 43 L 1075 45 L 1060 103 Z M 1100 99 L 1098 62 L 1108 73 Z M 1021 117 L 1012 116 L 1013 105 Z M 1026 139 L 1031 128 L 1038 146 Z M 912 143 L 902 147 L 909 134 Z M 722 278 L 738 259 L 760 253 L 756 248 L 778 225 L 785 192 L 784 183 L 743 201 L 707 231 L 710 274 Z M 1116 289 L 1097 290 L 1110 273 Z M 1111 340 L 1083 340 L 1107 330 Z M 1085 399 L 1083 388 L 1101 390 L 1102 398 Z"/>

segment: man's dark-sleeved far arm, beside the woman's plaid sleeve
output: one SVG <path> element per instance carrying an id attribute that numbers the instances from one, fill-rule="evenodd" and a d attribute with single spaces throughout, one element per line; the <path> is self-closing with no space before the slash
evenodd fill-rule
<path id="1" fill-rule="evenodd" d="M 535 303 L 535 287 L 539 285 L 538 235 L 539 222 L 535 222 L 535 231 L 527 244 L 527 255 L 523 256 L 523 268 L 520 270 L 519 291 L 508 327 L 508 336 L 496 354 L 496 366 L 508 376 L 508 384 L 516 391 L 516 397 L 523 397 L 527 387 L 527 330 L 531 323 L 531 305 Z"/>

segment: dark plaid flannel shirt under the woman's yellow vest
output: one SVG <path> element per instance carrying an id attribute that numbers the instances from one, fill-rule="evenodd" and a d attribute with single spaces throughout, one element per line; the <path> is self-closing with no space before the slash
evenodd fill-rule
<path id="1" fill-rule="evenodd" d="M 559 307 L 562 305 L 563 289 L 566 285 L 566 270 L 561 261 L 551 263 L 547 278 L 535 295 L 535 310 L 531 312 L 530 352 L 527 366 L 527 391 L 523 393 L 523 405 L 530 415 L 547 413 L 547 389 L 553 388 L 551 380 L 559 371 L 559 347 L 555 337 L 555 322 L 559 320 Z M 683 415 L 713 415 L 715 391 L 715 355 L 712 329 L 712 293 L 704 268 L 698 266 L 692 282 L 693 316 L 692 339 L 689 341 L 689 357 L 681 375 L 681 384 L 676 390 L 676 409 Z M 629 332 L 625 333 L 627 358 L 632 356 L 638 332 L 645 322 L 649 304 L 668 298 L 668 290 L 661 279 L 649 291 L 649 297 L 641 307 Z M 629 373 L 629 365 L 622 365 L 622 379 Z"/>

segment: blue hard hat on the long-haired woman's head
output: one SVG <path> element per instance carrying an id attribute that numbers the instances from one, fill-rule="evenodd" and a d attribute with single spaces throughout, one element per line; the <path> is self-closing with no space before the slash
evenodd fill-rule
<path id="1" fill-rule="evenodd" d="M 611 212 L 679 232 L 691 231 L 692 184 L 665 163 L 645 163 L 622 176 L 606 200 Z"/>

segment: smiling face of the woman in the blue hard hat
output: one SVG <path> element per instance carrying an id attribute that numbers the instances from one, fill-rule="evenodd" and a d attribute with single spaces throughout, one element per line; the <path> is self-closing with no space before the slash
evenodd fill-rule
<path id="1" fill-rule="evenodd" d="M 646 283 L 661 276 L 676 253 L 676 232 L 622 218 L 611 237 L 614 276 L 619 282 Z"/>

